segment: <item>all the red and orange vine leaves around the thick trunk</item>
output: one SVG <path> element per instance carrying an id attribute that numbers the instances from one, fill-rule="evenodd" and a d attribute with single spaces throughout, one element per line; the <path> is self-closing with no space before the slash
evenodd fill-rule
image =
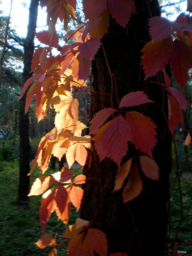
<path id="1" fill-rule="evenodd" d="M 159 168 L 153 159 L 152 150 L 157 143 L 156 125 L 148 116 L 135 111 L 125 111 L 127 107 L 140 104 L 154 104 L 144 92 L 131 92 L 125 95 L 119 103 L 119 109 L 105 108 L 96 113 L 92 120 L 91 136 L 82 137 L 82 130 L 86 127 L 78 120 L 78 100 L 72 97 L 72 87 L 86 86 L 85 80 L 89 76 L 91 60 L 100 47 L 100 39 L 107 33 L 109 14 L 119 25 L 125 27 L 132 13 L 136 13 L 133 0 L 83 0 L 83 10 L 86 23 L 80 24 L 76 30 L 68 31 L 68 39 L 75 39 L 73 44 L 59 45 L 58 36 L 54 33 L 55 24 L 59 18 L 64 20 L 67 31 L 69 17 L 75 18 L 75 0 L 40 0 L 43 8 L 47 7 L 48 31 L 36 33 L 36 38 L 44 46 L 39 47 L 33 56 L 31 72 L 34 75 L 24 84 L 20 98 L 28 90 L 25 112 L 28 111 L 33 95 L 36 97 L 36 115 L 40 121 L 46 115 L 49 107 L 56 111 L 55 128 L 48 132 L 40 141 L 37 154 L 33 160 L 32 170 L 36 163 L 44 173 L 47 170 L 50 156 L 61 159 L 66 154 L 69 165 L 77 161 L 84 165 L 87 159 L 87 149 L 91 143 L 98 152 L 100 160 L 110 157 L 119 169 L 116 174 L 114 191 L 123 188 L 123 200 L 127 202 L 140 195 L 142 190 L 141 170 L 148 178 L 158 180 Z M 145 79 L 156 75 L 159 71 L 164 74 L 163 91 L 168 98 L 168 124 L 173 132 L 177 124 L 183 123 L 181 108 L 187 108 L 187 101 L 176 89 L 170 87 L 170 78 L 165 73 L 165 65 L 172 65 L 172 72 L 181 88 L 187 83 L 188 69 L 192 67 L 192 25 L 188 16 L 180 14 L 175 22 L 161 17 L 153 17 L 149 21 L 149 31 L 152 40 L 143 48 L 141 64 L 146 73 Z M 57 55 L 52 56 L 52 49 Z M 158 76 L 158 74 L 157 74 Z M 34 84 L 30 84 L 36 80 Z M 29 88 L 29 89 L 28 89 Z M 151 102 L 151 103 L 150 103 Z M 123 108 L 123 110 L 122 110 Z M 111 120 L 107 121 L 113 115 Z M 121 165 L 123 156 L 128 150 L 128 142 L 134 144 L 140 154 L 135 159 L 129 159 Z M 185 145 L 190 144 L 188 135 Z M 143 155 L 142 155 L 143 154 Z M 51 176 L 42 176 L 34 182 L 30 194 L 42 193 L 40 218 L 42 223 L 42 237 L 36 243 L 41 249 L 54 245 L 49 256 L 57 254 L 56 237 L 43 235 L 45 224 L 51 213 L 56 212 L 58 219 L 68 223 L 71 203 L 80 208 L 83 190 L 76 186 L 85 182 L 85 176 L 77 176 L 73 182 L 73 174 L 64 167 L 61 172 Z M 52 183 L 52 188 L 47 190 Z M 46 191 L 47 190 L 47 191 Z M 45 192 L 46 191 L 46 192 Z M 63 237 L 70 238 L 68 255 L 101 256 L 108 253 L 107 239 L 99 229 L 90 228 L 85 220 L 76 220 L 76 224 L 69 226 Z M 127 253 L 117 252 L 110 256 L 125 256 Z"/>

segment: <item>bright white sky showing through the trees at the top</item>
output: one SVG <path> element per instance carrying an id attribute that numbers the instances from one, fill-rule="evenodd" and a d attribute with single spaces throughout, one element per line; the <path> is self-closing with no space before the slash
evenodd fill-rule
<path id="1" fill-rule="evenodd" d="M 170 0 L 170 3 L 179 2 L 179 0 Z M 26 3 L 26 7 L 22 5 L 22 3 Z M 10 0 L 2 0 L 2 4 L 0 6 L 1 10 L 5 15 L 9 15 L 10 12 Z M 28 8 L 30 5 L 30 0 L 13 0 L 12 2 L 12 12 L 11 12 L 11 22 L 12 27 L 16 29 L 16 32 L 19 36 L 27 35 L 27 26 L 28 26 Z M 186 11 L 187 1 L 181 3 L 182 11 Z M 168 8 L 168 12 L 171 12 L 172 7 Z M 175 20 L 178 16 L 178 13 L 172 15 L 171 20 Z M 46 28 L 46 8 L 41 9 L 39 6 L 38 9 L 38 18 L 37 18 L 37 31 L 41 31 Z"/>

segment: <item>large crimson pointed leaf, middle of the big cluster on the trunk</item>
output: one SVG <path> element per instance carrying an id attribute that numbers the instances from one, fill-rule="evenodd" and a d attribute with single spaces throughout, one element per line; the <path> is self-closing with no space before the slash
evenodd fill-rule
<path id="1" fill-rule="evenodd" d="M 118 165 L 127 153 L 128 141 L 131 141 L 131 127 L 123 116 L 116 116 L 102 135 L 103 151 Z"/>

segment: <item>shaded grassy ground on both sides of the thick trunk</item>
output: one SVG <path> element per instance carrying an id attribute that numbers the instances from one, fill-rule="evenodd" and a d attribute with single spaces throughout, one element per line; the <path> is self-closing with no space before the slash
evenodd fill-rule
<path id="1" fill-rule="evenodd" d="M 44 250 L 39 249 L 34 243 L 40 238 L 41 225 L 39 221 L 39 208 L 41 196 L 31 196 L 29 207 L 16 205 L 17 188 L 19 182 L 18 162 L 2 164 L 0 171 L 0 255 L 2 256 L 45 256 L 51 251 L 51 247 Z M 55 171 L 56 172 L 56 171 Z M 80 174 L 82 171 L 78 171 Z M 47 174 L 53 173 L 48 171 Z M 39 169 L 31 174 L 31 183 L 40 176 Z M 185 178 L 192 181 L 192 175 L 184 174 Z M 181 190 L 183 206 L 180 203 L 180 189 L 175 174 L 171 179 L 171 198 L 169 208 L 169 230 L 167 235 L 167 251 L 170 253 L 173 245 L 174 252 L 187 251 L 186 255 L 192 255 L 192 212 L 191 198 L 192 190 L 186 179 L 181 178 Z M 180 225 L 181 209 L 183 216 L 188 214 Z M 190 215 L 191 214 L 191 215 Z M 71 218 L 68 225 L 75 223 L 79 212 L 72 208 Z M 180 228 L 179 228 L 180 227 Z M 46 225 L 46 233 L 54 236 L 58 232 L 57 242 L 66 228 L 61 221 L 57 221 L 57 216 L 52 213 L 50 220 Z M 179 228 L 179 229 L 178 229 Z M 177 237 L 176 234 L 178 233 Z M 67 255 L 67 242 L 58 247 L 58 255 Z"/>

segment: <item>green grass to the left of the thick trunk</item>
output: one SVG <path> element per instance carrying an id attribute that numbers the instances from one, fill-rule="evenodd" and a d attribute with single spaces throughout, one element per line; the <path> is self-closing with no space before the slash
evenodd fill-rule
<path id="1" fill-rule="evenodd" d="M 39 219 L 41 196 L 31 196 L 28 207 L 18 206 L 16 204 L 19 184 L 18 162 L 4 162 L 2 166 L 0 171 L 0 255 L 48 255 L 52 246 L 41 250 L 34 244 L 41 236 Z M 49 175 L 54 172 L 56 170 L 47 171 L 46 174 Z M 81 173 L 82 170 L 79 170 L 76 175 Z M 41 176 L 39 168 L 36 168 L 30 176 L 31 185 L 39 176 Z M 68 225 L 75 223 L 76 218 L 79 217 L 79 211 L 76 212 L 74 207 L 71 210 Z M 68 225 L 63 224 L 60 220 L 57 221 L 57 216 L 53 212 L 46 224 L 45 233 L 54 237 L 57 232 L 57 242 L 59 243 L 63 240 L 61 236 Z M 67 255 L 67 241 L 58 247 L 58 255 Z"/>

